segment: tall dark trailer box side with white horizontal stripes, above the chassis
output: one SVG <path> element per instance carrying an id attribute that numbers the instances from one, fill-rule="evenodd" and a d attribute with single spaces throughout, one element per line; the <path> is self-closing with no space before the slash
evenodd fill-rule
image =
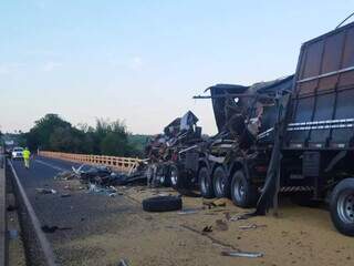
<path id="1" fill-rule="evenodd" d="M 292 100 L 285 147 L 353 147 L 354 23 L 302 45 Z"/>

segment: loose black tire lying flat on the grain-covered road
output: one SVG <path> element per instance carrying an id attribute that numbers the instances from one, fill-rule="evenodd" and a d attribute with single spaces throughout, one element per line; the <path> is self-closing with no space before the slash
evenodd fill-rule
<path id="1" fill-rule="evenodd" d="M 146 212 L 170 212 L 181 209 L 181 198 L 177 196 L 157 196 L 143 201 Z"/>

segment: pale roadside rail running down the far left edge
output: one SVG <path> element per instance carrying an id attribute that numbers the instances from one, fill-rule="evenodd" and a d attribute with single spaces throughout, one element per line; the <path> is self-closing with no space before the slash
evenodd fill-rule
<path id="1" fill-rule="evenodd" d="M 0 155 L 0 266 L 7 265 L 7 191 L 6 191 L 6 161 Z"/>

